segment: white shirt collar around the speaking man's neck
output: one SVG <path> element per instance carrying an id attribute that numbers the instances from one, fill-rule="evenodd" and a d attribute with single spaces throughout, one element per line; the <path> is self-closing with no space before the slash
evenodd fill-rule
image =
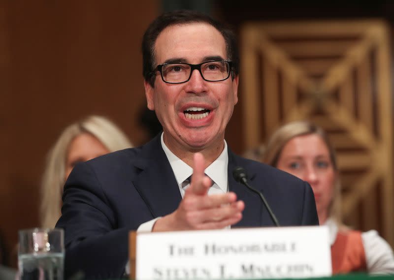
<path id="1" fill-rule="evenodd" d="M 169 164 L 171 165 L 172 171 L 174 172 L 176 182 L 178 186 L 182 185 L 189 176 L 193 174 L 193 168 L 183 162 L 178 156 L 175 156 L 165 145 L 163 133 L 161 136 L 162 147 L 167 156 Z M 215 159 L 206 169 L 205 174 L 211 178 L 211 180 L 218 186 L 223 192 L 227 192 L 228 178 L 227 178 L 227 167 L 229 164 L 229 154 L 227 152 L 226 140 L 223 152 L 218 158 Z"/>

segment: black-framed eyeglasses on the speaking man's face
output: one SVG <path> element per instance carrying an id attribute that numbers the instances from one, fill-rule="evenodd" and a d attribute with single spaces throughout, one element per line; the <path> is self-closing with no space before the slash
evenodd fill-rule
<path id="1" fill-rule="evenodd" d="M 169 62 L 157 65 L 156 71 L 160 72 L 163 81 L 168 84 L 186 83 L 195 69 L 205 81 L 219 82 L 230 77 L 231 66 L 231 61 L 210 61 L 199 64 Z"/>

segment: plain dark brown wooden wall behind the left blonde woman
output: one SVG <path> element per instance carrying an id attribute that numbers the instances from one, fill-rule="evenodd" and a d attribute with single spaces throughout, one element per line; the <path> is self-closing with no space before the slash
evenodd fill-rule
<path id="1" fill-rule="evenodd" d="M 66 125 L 99 114 L 144 140 L 140 45 L 158 5 L 1 1 L 0 233 L 9 252 L 18 229 L 38 225 L 44 158 Z"/>

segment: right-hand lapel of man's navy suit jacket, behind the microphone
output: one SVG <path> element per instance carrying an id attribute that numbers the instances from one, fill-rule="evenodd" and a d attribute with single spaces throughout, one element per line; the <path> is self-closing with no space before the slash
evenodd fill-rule
<path id="1" fill-rule="evenodd" d="M 228 166 L 228 178 L 229 178 L 229 189 L 236 193 L 237 198 L 245 202 L 245 210 L 242 212 L 242 219 L 232 227 L 248 227 L 248 226 L 260 226 L 262 225 L 262 202 L 256 193 L 253 193 L 247 189 L 244 185 L 235 181 L 232 176 L 232 170 L 237 166 L 242 166 L 242 162 L 237 161 L 235 156 L 230 149 L 229 151 L 229 166 Z M 244 166 L 242 166 L 244 167 Z M 246 170 L 250 172 L 250 170 Z M 249 178 L 254 178 L 256 174 L 248 174 Z M 253 180 L 250 180 L 253 184 Z"/>

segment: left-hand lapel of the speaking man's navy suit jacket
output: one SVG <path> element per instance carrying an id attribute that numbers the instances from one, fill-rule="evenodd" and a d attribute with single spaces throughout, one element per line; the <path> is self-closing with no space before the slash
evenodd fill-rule
<path id="1" fill-rule="evenodd" d="M 140 173 L 132 181 L 154 218 L 175 211 L 182 200 L 171 165 L 161 146 L 160 136 L 143 146 L 136 168 Z"/>

